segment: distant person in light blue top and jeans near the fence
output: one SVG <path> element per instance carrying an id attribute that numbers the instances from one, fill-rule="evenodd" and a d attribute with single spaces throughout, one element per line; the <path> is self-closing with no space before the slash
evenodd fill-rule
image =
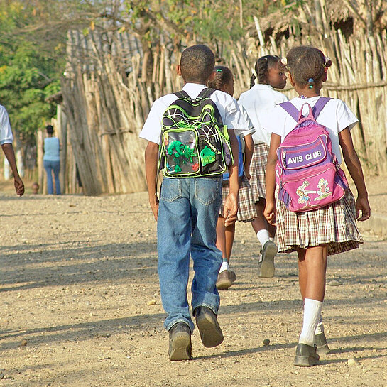
<path id="1" fill-rule="evenodd" d="M 59 158 L 59 140 L 53 136 L 54 128 L 52 125 L 45 127 L 47 131 L 47 137 L 44 139 L 44 156 L 43 166 L 45 173 L 47 173 L 47 193 L 53 195 L 53 171 L 55 176 L 55 192 L 60 195 L 60 182 L 59 182 L 59 171 L 60 171 L 60 158 Z"/>

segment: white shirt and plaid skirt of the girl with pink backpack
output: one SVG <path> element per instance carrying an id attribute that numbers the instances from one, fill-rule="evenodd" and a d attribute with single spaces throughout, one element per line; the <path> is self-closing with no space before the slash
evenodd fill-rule
<path id="1" fill-rule="evenodd" d="M 307 102 L 311 107 L 320 98 L 293 98 L 290 102 L 300 110 Z M 307 107 L 303 110 L 307 115 Z M 341 99 L 331 99 L 317 117 L 317 122 L 324 125 L 332 141 L 332 151 L 339 163 L 342 155 L 339 145 L 339 133 L 343 129 L 352 129 L 358 119 L 351 109 Z M 295 120 L 282 107 L 276 106 L 266 128 L 281 136 L 281 141 L 294 129 Z M 278 187 L 276 187 L 276 195 Z M 289 253 L 298 247 L 327 244 L 329 255 L 356 249 L 363 243 L 359 229 L 356 226 L 356 209 L 354 195 L 348 188 L 344 197 L 332 205 L 307 212 L 290 212 L 281 200 L 276 200 L 276 222 L 278 251 Z"/>

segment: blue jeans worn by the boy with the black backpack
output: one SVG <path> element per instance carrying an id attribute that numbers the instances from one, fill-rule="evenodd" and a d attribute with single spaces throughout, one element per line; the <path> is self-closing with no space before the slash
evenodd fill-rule
<path id="1" fill-rule="evenodd" d="M 192 256 L 192 310 L 206 306 L 216 314 L 216 282 L 222 253 L 215 246 L 217 219 L 222 202 L 221 178 L 165 178 L 158 208 L 158 276 L 165 312 L 165 329 L 176 322 L 194 325 L 187 300 Z"/>

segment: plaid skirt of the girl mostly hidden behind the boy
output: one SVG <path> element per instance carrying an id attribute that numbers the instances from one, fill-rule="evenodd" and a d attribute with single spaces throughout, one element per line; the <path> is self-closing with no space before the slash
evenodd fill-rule
<path id="1" fill-rule="evenodd" d="M 222 205 L 220 206 L 219 214 L 223 214 L 224 201 L 229 195 L 230 186 L 228 184 L 222 186 Z M 238 195 L 238 214 L 236 220 L 239 222 L 251 222 L 256 218 L 256 206 L 254 203 L 253 192 L 246 175 L 243 174 L 241 181 L 239 181 L 239 195 Z"/>

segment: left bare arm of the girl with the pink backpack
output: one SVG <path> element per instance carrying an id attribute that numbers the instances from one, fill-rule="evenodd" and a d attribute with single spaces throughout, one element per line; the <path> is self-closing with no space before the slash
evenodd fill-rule
<path id="1" fill-rule="evenodd" d="M 276 197 L 274 195 L 276 192 L 277 148 L 280 146 L 280 142 L 280 136 L 271 133 L 268 163 L 266 165 L 266 207 L 263 212 L 270 224 L 276 224 Z"/>

